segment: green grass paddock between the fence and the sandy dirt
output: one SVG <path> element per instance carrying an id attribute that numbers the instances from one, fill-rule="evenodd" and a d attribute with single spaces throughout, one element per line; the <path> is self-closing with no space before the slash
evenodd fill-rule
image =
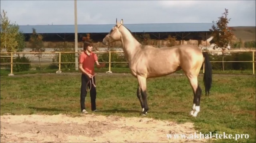
<path id="1" fill-rule="evenodd" d="M 173 74 L 147 82 L 149 112 L 146 117 L 194 122 L 204 134 L 249 134 L 249 139 L 237 142 L 256 142 L 255 75 L 213 75 L 211 95 L 201 97 L 201 112 L 191 118 L 193 94 L 184 75 Z M 1 115 L 71 114 L 79 115 L 80 74 L 34 74 L 1 76 Z M 203 87 L 202 75 L 199 83 Z M 129 74 L 98 74 L 97 107 L 101 115 L 139 117 L 141 107 L 136 97 L 136 78 Z M 204 88 L 203 88 L 204 92 Z M 90 96 L 86 108 L 90 112 Z M 235 142 L 218 139 L 215 142 Z"/>

